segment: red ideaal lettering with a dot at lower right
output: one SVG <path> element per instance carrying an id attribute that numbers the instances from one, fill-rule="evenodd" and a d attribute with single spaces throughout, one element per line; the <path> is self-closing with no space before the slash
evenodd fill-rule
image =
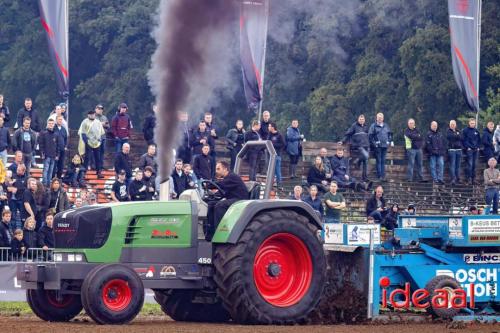
<path id="1" fill-rule="evenodd" d="M 387 288 L 391 285 L 391 280 L 384 276 L 380 278 L 379 285 L 382 287 L 382 307 L 392 305 L 395 309 L 465 309 L 467 308 L 467 293 L 464 289 L 443 288 L 436 289 L 431 297 L 431 293 L 426 289 L 417 289 L 410 293 L 410 283 L 405 283 L 404 289 L 394 289 L 387 297 Z M 471 290 L 474 290 L 474 284 L 471 284 Z M 430 301 L 429 301 L 429 297 Z M 469 307 L 474 308 L 474 293 L 470 296 Z"/>

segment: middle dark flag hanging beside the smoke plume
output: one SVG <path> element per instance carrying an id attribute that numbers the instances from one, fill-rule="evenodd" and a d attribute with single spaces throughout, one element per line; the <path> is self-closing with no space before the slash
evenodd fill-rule
<path id="1" fill-rule="evenodd" d="M 255 112 L 262 101 L 268 16 L 269 0 L 241 2 L 240 56 L 243 86 L 248 108 Z"/>

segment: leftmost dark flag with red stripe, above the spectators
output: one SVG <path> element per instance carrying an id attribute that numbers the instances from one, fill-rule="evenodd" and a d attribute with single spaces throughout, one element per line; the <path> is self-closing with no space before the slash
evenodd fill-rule
<path id="1" fill-rule="evenodd" d="M 69 94 L 68 1 L 38 0 L 40 21 L 47 35 L 49 53 L 56 72 L 59 94 Z"/>

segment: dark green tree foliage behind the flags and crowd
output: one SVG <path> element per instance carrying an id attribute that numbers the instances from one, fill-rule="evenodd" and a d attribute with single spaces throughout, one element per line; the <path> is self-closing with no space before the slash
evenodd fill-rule
<path id="1" fill-rule="evenodd" d="M 158 3 L 70 1 L 72 127 L 95 104 L 110 115 L 122 101 L 140 127 L 153 101 L 146 73 L 156 47 L 151 28 Z M 268 38 L 264 109 L 280 129 L 298 118 L 308 139 L 340 140 L 358 114 L 371 122 L 384 112 L 401 140 L 408 117 L 421 128 L 468 117 L 451 69 L 446 1 L 355 3 L 355 15 L 298 15 L 286 43 Z M 36 2 L 0 0 L 0 8 L 0 93 L 14 113 L 31 96 L 46 115 L 60 97 Z M 482 20 L 480 126 L 500 122 L 498 1 L 483 2 Z M 233 73 L 241 82 L 238 66 Z M 236 94 L 219 96 L 214 112 L 221 132 L 238 118 L 248 124 L 255 117 L 246 111 L 242 84 Z"/>

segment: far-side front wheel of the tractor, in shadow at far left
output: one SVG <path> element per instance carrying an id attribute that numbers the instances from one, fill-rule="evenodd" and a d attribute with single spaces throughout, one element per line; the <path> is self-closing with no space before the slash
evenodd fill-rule
<path id="1" fill-rule="evenodd" d="M 33 313 L 45 321 L 70 321 L 82 311 L 78 295 L 58 295 L 55 290 L 28 289 L 26 300 Z"/>

